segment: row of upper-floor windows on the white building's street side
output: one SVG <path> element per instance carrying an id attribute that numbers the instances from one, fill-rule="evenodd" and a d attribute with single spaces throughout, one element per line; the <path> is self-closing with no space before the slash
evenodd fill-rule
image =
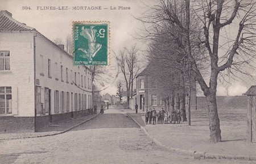
<path id="1" fill-rule="evenodd" d="M 40 61 L 41 61 L 40 74 L 44 75 L 44 73 L 43 73 L 44 63 L 43 63 L 42 55 L 40 55 Z M 51 67 L 52 67 L 52 62 L 51 62 L 51 59 L 48 58 L 48 77 L 49 78 L 52 78 L 52 68 Z M 59 80 L 59 73 L 57 72 L 57 70 L 58 70 L 57 62 L 55 62 L 54 70 L 55 70 L 55 79 Z M 65 75 L 64 75 L 64 71 L 65 71 Z M 84 70 L 84 71 L 86 74 L 86 70 Z M 71 84 L 74 82 L 77 86 L 81 86 L 81 87 L 85 87 L 85 88 L 88 87 L 88 89 L 92 89 L 92 82 L 91 82 L 92 79 L 86 78 L 86 75 L 80 75 L 79 72 L 73 73 L 73 70 L 69 70 L 68 68 L 64 68 L 63 65 L 60 65 L 60 80 L 62 82 L 64 82 L 64 78 L 65 78 L 65 81 L 67 83 L 69 83 L 69 73 L 70 73 L 70 78 L 71 78 Z M 74 74 L 74 77 L 73 77 L 73 74 Z M 89 75 L 91 75 L 91 74 L 89 74 Z"/>

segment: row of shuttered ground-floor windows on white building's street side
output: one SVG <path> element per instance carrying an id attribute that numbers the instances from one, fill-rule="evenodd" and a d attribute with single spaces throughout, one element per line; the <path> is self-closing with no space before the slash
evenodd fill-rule
<path id="1" fill-rule="evenodd" d="M 86 109 L 87 96 L 86 94 L 77 94 L 64 91 L 55 91 L 55 113 L 71 112 L 72 110 L 79 111 Z M 75 99 L 75 100 L 74 100 Z M 92 108 L 92 95 L 88 95 L 88 106 Z M 71 104 L 71 108 L 70 107 Z"/>

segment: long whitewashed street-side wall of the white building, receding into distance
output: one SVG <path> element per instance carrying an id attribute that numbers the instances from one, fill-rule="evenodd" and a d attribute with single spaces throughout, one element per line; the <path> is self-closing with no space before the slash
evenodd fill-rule
<path id="1" fill-rule="evenodd" d="M 48 75 L 48 59 L 51 60 L 50 74 Z M 63 66 L 63 78 L 61 79 L 61 66 Z M 68 69 L 68 76 L 66 73 Z M 76 73 L 76 79 L 75 79 Z M 81 78 L 82 75 L 82 78 Z M 62 51 L 59 47 L 53 45 L 44 37 L 38 35 L 36 37 L 36 86 L 41 87 L 40 103 L 43 110 L 46 109 L 44 90 L 51 90 L 51 114 L 68 113 L 75 111 L 75 93 L 86 95 L 86 106 L 80 110 L 85 110 L 92 107 L 92 73 L 85 66 L 74 66 L 73 57 Z M 55 91 L 59 91 L 59 108 L 55 112 Z M 64 91 L 64 107 L 61 108 L 61 91 Z M 67 103 L 67 92 L 69 93 L 69 105 Z M 73 98 L 71 93 L 73 92 Z M 72 102 L 73 100 L 73 107 Z M 82 103 L 82 102 L 81 102 Z M 84 103 L 85 104 L 85 103 Z M 69 106 L 69 111 L 68 111 Z M 37 110 L 41 110 L 37 106 Z M 47 111 L 47 110 L 46 110 Z M 49 113 L 46 112 L 46 115 Z M 43 116 L 44 112 L 38 113 L 38 116 Z"/>

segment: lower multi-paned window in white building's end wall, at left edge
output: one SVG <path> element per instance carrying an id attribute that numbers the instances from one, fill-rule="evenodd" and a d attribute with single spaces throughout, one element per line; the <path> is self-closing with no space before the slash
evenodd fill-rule
<path id="1" fill-rule="evenodd" d="M 11 87 L 0 87 L 0 114 L 11 113 Z"/>

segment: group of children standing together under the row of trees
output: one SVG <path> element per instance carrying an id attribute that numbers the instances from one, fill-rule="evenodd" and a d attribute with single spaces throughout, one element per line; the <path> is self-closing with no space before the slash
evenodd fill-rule
<path id="1" fill-rule="evenodd" d="M 153 108 L 153 110 L 146 110 L 145 113 L 145 121 L 146 124 L 156 124 L 156 118 L 158 119 L 158 124 L 168 124 L 168 122 L 170 121 L 170 124 L 174 123 L 179 124 L 180 120 L 181 120 L 181 116 L 180 116 L 180 111 L 172 111 L 171 115 L 168 114 L 167 111 L 164 111 L 164 109 L 162 108 L 162 110 L 157 111 L 155 110 L 155 108 Z"/>

